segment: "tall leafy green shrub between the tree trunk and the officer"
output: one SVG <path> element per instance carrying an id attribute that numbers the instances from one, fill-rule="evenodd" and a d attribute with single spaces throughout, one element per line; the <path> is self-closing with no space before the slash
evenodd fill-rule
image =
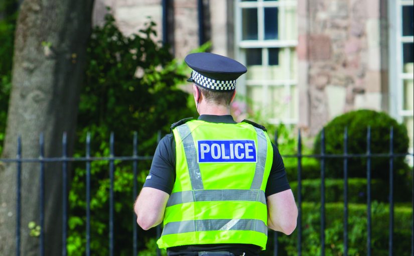
<path id="1" fill-rule="evenodd" d="M 112 16 L 103 27 L 92 31 L 87 48 L 84 85 L 80 95 L 75 157 L 85 155 L 86 133 L 91 134 L 91 155 L 109 156 L 109 134 L 115 135 L 115 156 L 132 155 L 133 131 L 139 138 L 140 156 L 153 155 L 158 131 L 169 133 L 171 123 L 191 116 L 188 93 L 176 81 L 186 76 L 177 73 L 179 63 L 169 48 L 155 42 L 155 24 L 149 22 L 139 34 L 124 36 Z M 189 72 L 188 72 L 189 73 Z M 194 102 L 194 101 L 193 101 Z M 193 103 L 194 104 L 194 103 Z M 91 163 L 91 254 L 108 255 L 108 161 Z M 142 187 L 151 161 L 138 163 L 138 187 Z M 134 198 L 132 163 L 114 163 L 114 246 L 116 255 L 131 255 Z M 73 164 L 69 193 L 70 255 L 85 254 L 85 163 Z M 156 229 L 139 228 L 139 251 L 155 254 Z M 150 246 L 151 247 L 148 247 Z"/>

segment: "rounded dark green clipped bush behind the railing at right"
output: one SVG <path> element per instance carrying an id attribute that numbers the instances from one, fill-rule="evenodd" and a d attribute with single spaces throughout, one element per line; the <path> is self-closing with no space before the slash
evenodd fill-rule
<path id="1" fill-rule="evenodd" d="M 343 154 L 344 130 L 348 127 L 348 154 L 366 154 L 367 127 L 371 127 L 371 153 L 389 153 L 390 127 L 394 129 L 394 153 L 406 153 L 408 149 L 408 136 L 406 127 L 399 124 L 384 112 L 373 110 L 357 110 L 342 114 L 325 125 L 326 154 Z M 321 133 L 318 134 L 314 144 L 314 153 L 321 152 Z M 407 173 L 404 157 L 395 158 L 394 170 L 397 176 Z M 354 157 L 349 159 L 349 177 L 366 177 L 366 158 Z M 388 180 L 389 159 L 372 158 L 372 177 Z M 331 178 L 343 177 L 343 159 L 326 159 L 326 176 Z M 398 181 L 406 180 L 406 176 Z"/>

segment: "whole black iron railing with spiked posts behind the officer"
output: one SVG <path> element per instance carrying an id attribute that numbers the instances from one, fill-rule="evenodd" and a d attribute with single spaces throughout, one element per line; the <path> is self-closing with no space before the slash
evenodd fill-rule
<path id="1" fill-rule="evenodd" d="M 321 167 L 321 236 L 320 236 L 320 244 L 321 244 L 321 255 L 325 255 L 325 161 L 327 159 L 337 158 L 343 159 L 343 171 L 344 171 L 344 249 L 343 255 L 348 254 L 348 161 L 352 158 L 365 158 L 367 160 L 367 170 L 366 170 L 366 177 L 367 177 L 367 254 L 370 256 L 372 254 L 372 241 L 371 241 L 371 161 L 373 158 L 388 158 L 389 159 L 389 238 L 388 238 L 388 253 L 389 255 L 393 254 L 393 232 L 394 232 L 394 170 L 393 170 L 393 162 L 394 159 L 397 157 L 412 157 L 413 154 L 396 154 L 394 153 L 394 145 L 393 145 L 393 128 L 390 128 L 390 143 L 389 143 L 389 153 L 383 154 L 373 154 L 371 152 L 371 130 L 370 127 L 367 129 L 367 151 L 366 154 L 348 154 L 348 132 L 347 129 L 344 131 L 344 150 L 343 154 L 326 154 L 325 152 L 325 132 L 322 130 L 321 133 L 321 153 L 320 154 L 309 154 L 303 155 L 302 154 L 302 137 L 301 132 L 298 133 L 298 152 L 294 155 L 284 155 L 283 158 L 296 158 L 298 160 L 298 191 L 297 191 L 297 204 L 298 204 L 298 223 L 297 223 L 297 230 L 298 230 L 298 241 L 297 241 L 297 250 L 298 255 L 302 255 L 302 219 L 303 219 L 303 212 L 302 212 L 302 159 L 303 158 L 317 158 L 320 160 L 320 167 Z M 275 143 L 277 144 L 277 134 L 275 134 Z M 161 139 L 161 134 L 158 134 L 158 141 Z M 114 161 L 128 161 L 132 164 L 132 172 L 133 172 L 133 195 L 131 200 L 135 200 L 138 192 L 137 187 L 137 163 L 138 161 L 148 161 L 152 160 L 152 156 L 138 156 L 137 155 L 137 135 L 134 133 L 133 136 L 133 149 L 132 149 L 132 156 L 123 156 L 123 157 L 116 157 L 114 156 L 114 136 L 113 133 L 110 135 L 109 147 L 110 147 L 110 155 L 109 157 L 91 157 L 90 156 L 90 134 L 86 136 L 86 154 L 85 157 L 68 157 L 67 156 L 67 137 L 66 134 L 63 134 L 62 137 L 62 157 L 60 158 L 45 158 L 44 157 L 44 136 L 43 134 L 40 135 L 39 145 L 40 145 L 40 154 L 39 158 L 31 158 L 31 159 L 23 159 L 22 158 L 22 140 L 19 137 L 17 140 L 17 157 L 16 159 L 0 159 L 0 162 L 7 162 L 7 163 L 16 163 L 17 167 L 17 183 L 16 183 L 16 194 L 17 194 L 17 206 L 16 206 L 16 255 L 20 256 L 20 247 L 21 247 L 21 176 L 22 176 L 22 163 L 39 163 L 40 165 L 40 176 L 39 176 L 39 184 L 40 184 L 40 243 L 39 243 L 39 251 L 40 255 L 44 256 L 44 209 L 45 209 L 45 185 L 44 185 L 44 171 L 45 171 L 45 163 L 47 162 L 58 162 L 62 164 L 62 255 L 67 255 L 66 249 L 66 240 L 67 240 L 67 223 L 68 223 L 68 209 L 67 209 L 67 202 L 68 202 L 68 163 L 69 162 L 84 162 L 86 168 L 86 255 L 90 255 L 90 183 L 91 183 L 91 162 L 93 161 L 109 161 L 109 179 L 110 179 L 110 187 L 109 187 L 109 234 L 108 234 L 108 246 L 109 246 L 109 255 L 114 255 L 114 196 L 113 196 L 113 183 L 114 183 Z M 413 174 L 414 175 L 414 174 Z M 414 205 L 414 188 L 412 189 L 412 204 Z M 414 223 L 414 215 L 411 217 L 412 223 Z M 137 255 L 137 225 L 136 225 L 136 218 L 133 215 L 131 224 L 133 225 L 133 255 Z M 157 226 L 157 236 L 161 235 L 161 226 Z M 414 237 L 414 225 L 411 226 L 411 255 L 414 254 L 413 249 L 413 237 Z M 278 233 L 274 232 L 273 236 L 273 254 L 278 255 Z M 161 255 L 160 249 L 157 249 L 157 255 Z"/>

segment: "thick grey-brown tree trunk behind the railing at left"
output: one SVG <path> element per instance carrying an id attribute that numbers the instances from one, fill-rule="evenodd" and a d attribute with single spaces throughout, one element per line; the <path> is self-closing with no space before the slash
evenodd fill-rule
<path id="1" fill-rule="evenodd" d="M 22 137 L 22 157 L 39 157 L 39 135 L 45 156 L 62 154 L 62 134 L 73 148 L 79 85 L 85 66 L 93 0 L 26 0 L 16 28 L 13 87 L 3 158 L 15 158 Z M 62 251 L 61 163 L 45 170 L 45 255 Z M 22 169 L 21 255 L 38 254 L 39 237 L 28 224 L 39 224 L 39 163 Z M 16 163 L 0 163 L 0 254 L 16 254 Z"/>

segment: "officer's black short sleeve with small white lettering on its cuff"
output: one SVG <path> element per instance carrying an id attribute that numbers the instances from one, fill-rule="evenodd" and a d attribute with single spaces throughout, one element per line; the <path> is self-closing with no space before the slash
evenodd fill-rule
<path id="1" fill-rule="evenodd" d="M 169 134 L 157 146 L 144 187 L 156 188 L 171 195 L 175 182 L 175 159 L 174 136 Z"/>

